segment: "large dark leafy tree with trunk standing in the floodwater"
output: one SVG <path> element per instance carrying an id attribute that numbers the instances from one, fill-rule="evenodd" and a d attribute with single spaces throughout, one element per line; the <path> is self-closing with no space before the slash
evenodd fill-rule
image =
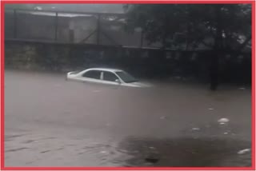
<path id="1" fill-rule="evenodd" d="M 212 50 L 210 89 L 218 87 L 219 58 L 226 51 L 241 51 L 251 39 L 250 4 L 126 5 L 126 30 L 141 27 L 150 42 L 162 49 L 186 45 L 186 50 L 204 45 Z"/>

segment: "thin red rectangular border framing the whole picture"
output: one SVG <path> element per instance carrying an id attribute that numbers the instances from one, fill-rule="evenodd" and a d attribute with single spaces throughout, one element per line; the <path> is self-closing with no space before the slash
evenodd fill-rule
<path id="1" fill-rule="evenodd" d="M 4 5 L 8 3 L 162 3 L 162 4 L 238 4 L 250 3 L 252 5 L 252 166 L 251 167 L 5 167 L 4 166 Z M 2 1 L 1 2 L 1 169 L 2 170 L 255 170 L 255 1 Z"/>

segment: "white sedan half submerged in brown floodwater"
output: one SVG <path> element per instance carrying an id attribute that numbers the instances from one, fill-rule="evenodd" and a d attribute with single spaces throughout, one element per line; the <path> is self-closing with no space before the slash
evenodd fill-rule
<path id="1" fill-rule="evenodd" d="M 69 72 L 66 74 L 67 80 L 80 82 L 93 82 L 106 85 L 124 85 L 131 87 L 150 87 L 151 85 L 138 82 L 130 74 L 123 70 L 107 68 L 91 68 L 81 72 Z"/>

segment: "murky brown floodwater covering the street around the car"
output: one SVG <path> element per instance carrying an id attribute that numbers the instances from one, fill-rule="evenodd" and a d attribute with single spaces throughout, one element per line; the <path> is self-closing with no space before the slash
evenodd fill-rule
<path id="1" fill-rule="evenodd" d="M 251 165 L 249 87 L 148 82 L 111 87 L 6 70 L 5 165 Z"/>

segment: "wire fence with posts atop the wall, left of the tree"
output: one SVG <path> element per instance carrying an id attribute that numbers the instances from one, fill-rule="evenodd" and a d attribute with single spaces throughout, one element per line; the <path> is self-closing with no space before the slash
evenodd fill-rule
<path id="1" fill-rule="evenodd" d="M 142 30 L 124 30 L 125 14 L 6 10 L 5 38 L 37 42 L 146 46 Z M 154 46 L 157 47 L 157 46 Z"/>

